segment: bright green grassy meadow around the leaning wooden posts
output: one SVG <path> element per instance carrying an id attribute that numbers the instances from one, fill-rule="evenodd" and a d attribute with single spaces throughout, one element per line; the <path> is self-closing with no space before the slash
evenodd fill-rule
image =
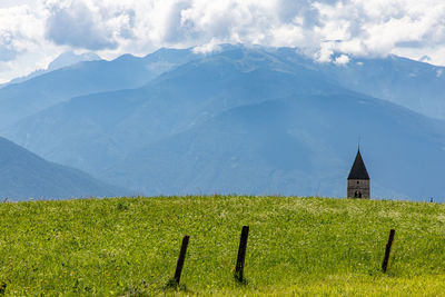
<path id="1" fill-rule="evenodd" d="M 234 269 L 250 227 L 245 276 Z M 8 296 L 445 296 L 445 206 L 291 197 L 0 204 Z M 380 271 L 396 229 L 388 273 Z M 184 235 L 181 285 L 168 287 Z"/>

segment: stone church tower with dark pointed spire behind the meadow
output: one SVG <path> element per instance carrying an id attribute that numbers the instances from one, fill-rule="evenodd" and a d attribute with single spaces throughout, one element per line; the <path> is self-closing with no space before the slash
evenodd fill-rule
<path id="1" fill-rule="evenodd" d="M 357 156 L 355 157 L 353 168 L 350 168 L 347 182 L 348 182 L 347 187 L 348 198 L 362 198 L 362 199 L 370 198 L 369 176 L 368 171 L 366 170 L 366 166 L 362 159 L 359 148 L 357 151 Z"/>

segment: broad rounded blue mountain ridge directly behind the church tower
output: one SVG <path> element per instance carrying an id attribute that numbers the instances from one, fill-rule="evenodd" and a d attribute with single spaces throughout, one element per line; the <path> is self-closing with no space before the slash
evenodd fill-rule
<path id="1" fill-rule="evenodd" d="M 442 197 L 445 123 L 382 100 L 296 96 L 224 112 L 102 175 L 149 195 L 344 197 L 358 138 L 380 198 Z"/>

